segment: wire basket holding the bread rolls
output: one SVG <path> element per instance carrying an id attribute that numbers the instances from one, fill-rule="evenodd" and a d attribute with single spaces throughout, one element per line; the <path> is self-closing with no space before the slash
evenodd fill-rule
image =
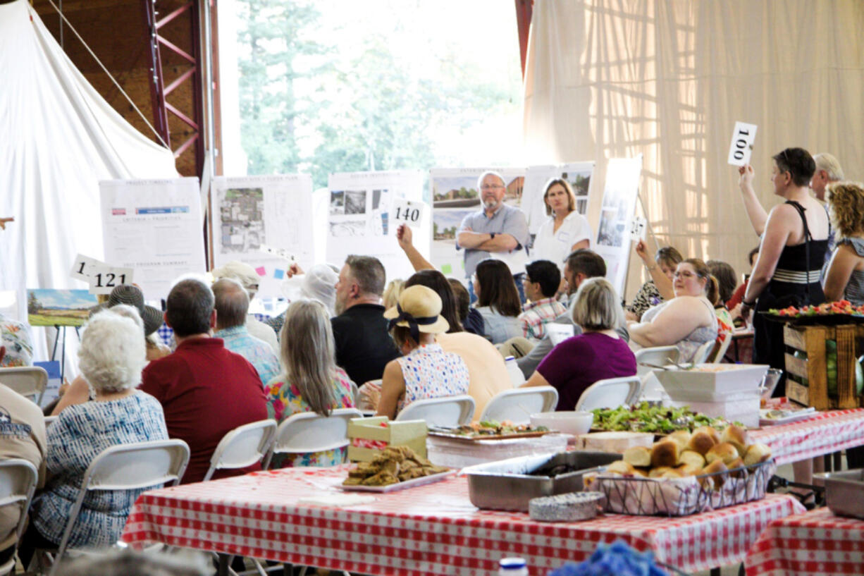
<path id="1" fill-rule="evenodd" d="M 606 512 L 628 515 L 686 516 L 765 497 L 777 464 L 760 464 L 683 478 L 587 477 L 585 490 L 606 496 Z"/>

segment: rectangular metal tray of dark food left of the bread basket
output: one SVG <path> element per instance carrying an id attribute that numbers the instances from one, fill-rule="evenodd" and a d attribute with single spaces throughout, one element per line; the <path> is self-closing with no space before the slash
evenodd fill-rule
<path id="1" fill-rule="evenodd" d="M 461 474 L 468 477 L 468 497 L 477 508 L 527 512 L 531 498 L 580 492 L 583 474 L 620 459 L 620 454 L 609 452 L 560 452 L 477 464 L 463 468 Z M 530 476 L 545 464 L 569 464 L 576 470 L 556 477 Z"/>

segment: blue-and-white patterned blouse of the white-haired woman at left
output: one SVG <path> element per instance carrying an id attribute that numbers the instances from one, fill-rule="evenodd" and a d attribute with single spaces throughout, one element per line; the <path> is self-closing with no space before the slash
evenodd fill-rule
<path id="1" fill-rule="evenodd" d="M 119 400 L 68 406 L 48 426 L 50 480 L 41 499 L 34 501 L 30 520 L 49 541 L 59 544 L 93 458 L 113 445 L 167 439 L 162 405 L 140 390 Z M 132 504 L 145 490 L 149 489 L 88 492 L 69 546 L 103 547 L 118 541 Z"/>

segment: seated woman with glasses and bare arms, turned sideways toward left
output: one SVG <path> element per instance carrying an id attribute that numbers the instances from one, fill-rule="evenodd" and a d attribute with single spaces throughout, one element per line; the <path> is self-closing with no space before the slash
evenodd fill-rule
<path id="1" fill-rule="evenodd" d="M 717 280 L 700 259 L 678 265 L 673 283 L 675 298 L 649 309 L 642 322 L 628 323 L 632 348 L 677 346 L 680 362 L 690 362 L 696 349 L 717 339 L 714 304 Z"/>

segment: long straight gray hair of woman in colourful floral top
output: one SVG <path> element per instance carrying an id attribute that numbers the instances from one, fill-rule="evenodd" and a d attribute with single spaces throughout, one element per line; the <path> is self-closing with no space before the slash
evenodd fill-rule
<path id="1" fill-rule="evenodd" d="M 309 298 L 292 302 L 280 340 L 285 385 L 296 386 L 315 413 L 329 416 L 336 404 L 336 345 L 327 307 Z"/>

